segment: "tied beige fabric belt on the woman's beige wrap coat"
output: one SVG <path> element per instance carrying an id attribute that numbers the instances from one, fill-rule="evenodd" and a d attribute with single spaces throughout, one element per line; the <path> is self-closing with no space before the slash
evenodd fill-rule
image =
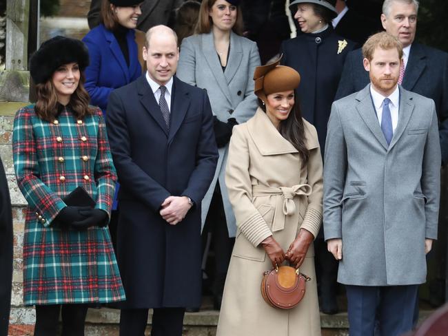
<path id="1" fill-rule="evenodd" d="M 272 224 L 272 232 L 281 231 L 285 229 L 285 216 L 292 216 L 296 213 L 296 203 L 293 198 L 296 196 L 309 196 L 312 193 L 312 187 L 310 185 L 293 185 L 292 187 L 261 187 L 259 185 L 252 186 L 252 196 L 269 196 L 278 195 L 282 196 L 276 198 L 276 209 L 283 209 L 282 218 L 276 216 L 274 223 Z M 299 204 L 302 204 L 300 202 Z M 299 205 L 300 206 L 300 205 Z M 300 209 L 299 209 L 300 212 Z"/>

